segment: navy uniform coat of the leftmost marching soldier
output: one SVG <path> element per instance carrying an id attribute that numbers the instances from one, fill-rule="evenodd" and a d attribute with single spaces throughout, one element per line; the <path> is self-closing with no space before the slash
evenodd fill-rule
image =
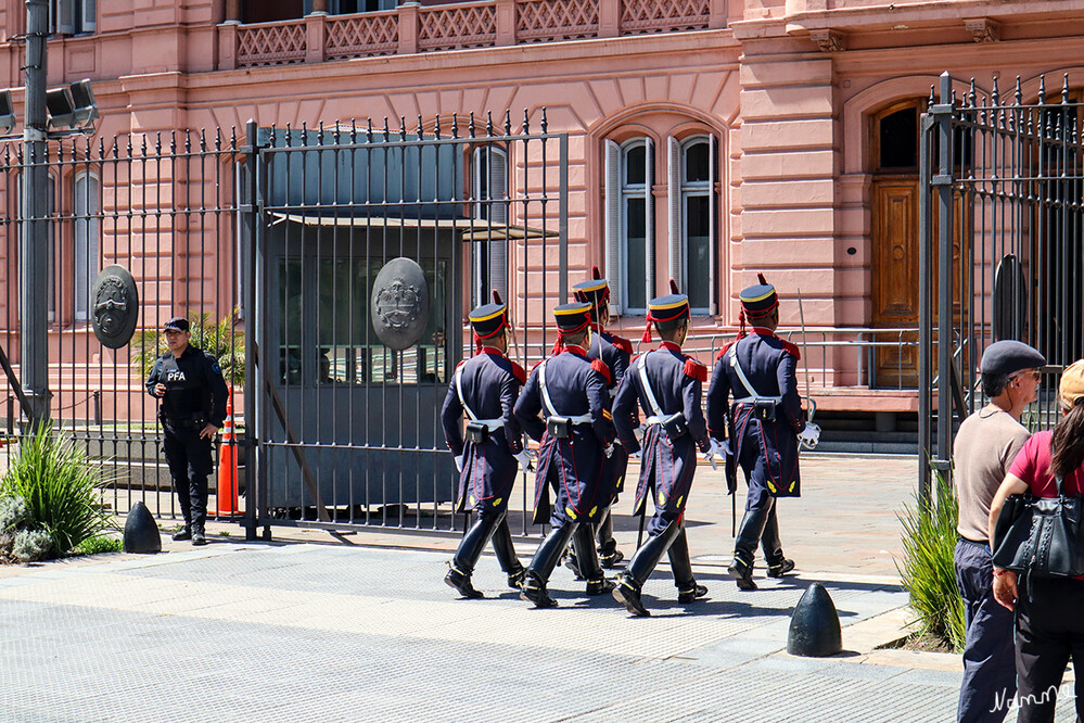
<path id="1" fill-rule="evenodd" d="M 462 511 L 468 504 L 480 512 L 487 508 L 502 510 L 508 505 L 519 466 L 513 455 L 523 451 L 520 423 L 512 414 L 512 407 L 526 372 L 489 346 L 461 362 L 457 371 L 463 385 L 463 401 L 475 417 L 501 419 L 505 426 L 489 432 L 484 445 L 464 442 L 460 420 L 466 413 L 459 402 L 456 377 L 451 378 L 441 410 L 441 422 L 451 454 L 463 456 L 456 511 Z"/>

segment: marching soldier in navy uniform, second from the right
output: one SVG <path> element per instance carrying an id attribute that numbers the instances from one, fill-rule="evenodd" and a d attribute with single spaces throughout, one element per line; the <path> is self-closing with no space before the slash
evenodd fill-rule
<path id="1" fill-rule="evenodd" d="M 643 583 L 664 554 L 669 555 L 678 601 L 693 602 L 707 594 L 697 584 L 685 535 L 685 507 L 697 471 L 697 448 L 707 452 L 707 424 L 700 410 L 702 384 L 707 368 L 681 352 L 689 333 L 689 297 L 671 294 L 651 300 L 643 343 L 651 341 L 651 325 L 662 343 L 637 357 L 617 389 L 613 421 L 622 445 L 640 456 L 640 480 L 633 512 L 647 512 L 647 498 L 654 499 L 655 513 L 648 524 L 648 540 L 628 569 L 617 578 L 613 597 L 634 616 L 649 616 L 640 599 Z M 636 440 L 638 406 L 647 415 L 642 451 Z"/>

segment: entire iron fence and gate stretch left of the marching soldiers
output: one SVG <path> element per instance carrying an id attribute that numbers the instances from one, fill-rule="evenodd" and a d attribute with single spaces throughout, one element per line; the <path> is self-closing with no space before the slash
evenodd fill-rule
<path id="1" fill-rule="evenodd" d="M 51 141 L 27 158 L 0 145 L 0 346 L 17 378 L 21 284 L 49 299 L 50 416 L 86 447 L 118 513 L 137 500 L 177 517 L 156 402 L 143 380 L 171 316 L 192 320 L 233 386 L 240 506 L 211 515 L 271 524 L 454 530 L 455 466 L 441 405 L 470 339 L 467 312 L 509 302 L 530 368 L 547 354 L 547 310 L 567 296 L 567 136 L 545 110 Z M 49 172 L 49 265 L 22 276 L 21 176 Z M 41 223 L 41 221 L 38 221 Z M 385 274 L 413 264 L 411 283 Z M 131 343 L 97 340 L 92 286 L 107 265 L 136 280 Z M 392 269 L 394 270 L 394 268 Z M 390 284 L 378 282 L 391 279 Z M 396 286 L 398 282 L 398 286 Z M 378 299 L 374 292 L 382 292 Z M 411 295 L 413 294 L 413 295 Z M 411 305 L 424 296 L 429 313 Z M 412 300 L 412 301 L 411 301 Z M 408 318 L 409 317 L 409 318 Z M 406 319 L 406 320 L 405 320 Z M 388 341 L 396 328 L 416 338 Z M 0 409 L 22 433 L 15 384 Z M 528 525 L 526 484 L 512 509 Z"/>

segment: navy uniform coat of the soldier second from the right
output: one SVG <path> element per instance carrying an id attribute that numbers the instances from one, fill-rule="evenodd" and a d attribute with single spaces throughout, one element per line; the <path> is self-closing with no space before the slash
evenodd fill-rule
<path id="1" fill-rule="evenodd" d="M 621 443 L 629 453 L 640 449 L 634 433 L 639 424 L 638 407 L 643 409 L 646 416 L 654 415 L 640 382 L 640 365 L 646 367 L 651 391 L 663 416 L 685 413 L 689 428 L 689 433 L 676 441 L 672 441 L 660 424 L 649 426 L 643 433 L 640 481 L 636 487 L 633 513 L 643 513 L 646 497 L 653 494 L 655 517 L 665 523 L 676 520 L 685 510 L 697 471 L 697 448 L 707 447 L 707 423 L 700 408 L 707 368 L 671 342 L 662 342 L 659 348 L 633 360 L 613 403 L 613 423 Z M 652 532 L 661 532 L 654 530 L 654 520 L 652 522 Z"/>

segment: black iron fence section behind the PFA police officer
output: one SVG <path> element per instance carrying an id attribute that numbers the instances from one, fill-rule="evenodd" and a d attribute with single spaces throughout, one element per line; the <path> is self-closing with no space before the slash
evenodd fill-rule
<path id="1" fill-rule="evenodd" d="M 49 143 L 40 158 L 25 157 L 20 143 L 0 144 L 0 346 L 17 379 L 18 290 L 29 284 L 48 299 L 50 417 L 102 468 L 109 481 L 104 502 L 117 512 L 142 500 L 158 516 L 177 513 L 156 403 L 142 386 L 165 351 L 162 324 L 188 316 L 195 343 L 224 362 L 231 350 L 243 355 L 235 313 L 238 149 L 231 130 L 67 139 Z M 28 165 L 44 166 L 49 175 L 43 278 L 24 278 L 20 259 L 22 175 Z M 135 337 L 119 350 L 103 346 L 92 328 L 93 284 L 111 264 L 130 270 L 139 294 Z M 228 373 L 243 372 L 235 363 L 226 366 Z M 243 377 L 230 381 L 240 392 Z M 0 416 L 4 432 L 17 437 L 21 405 L 13 385 L 3 383 Z M 243 411 L 241 394 L 235 402 Z"/>

